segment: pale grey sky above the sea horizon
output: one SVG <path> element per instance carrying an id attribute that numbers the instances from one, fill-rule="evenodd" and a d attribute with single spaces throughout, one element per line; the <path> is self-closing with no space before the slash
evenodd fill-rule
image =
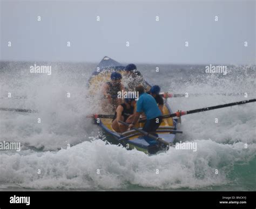
<path id="1" fill-rule="evenodd" d="M 1 3 L 1 60 L 254 64 L 255 43 L 255 1 Z"/>

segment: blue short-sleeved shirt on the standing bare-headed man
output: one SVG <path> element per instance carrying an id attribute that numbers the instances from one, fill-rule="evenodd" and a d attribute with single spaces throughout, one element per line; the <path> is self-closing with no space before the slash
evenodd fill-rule
<path id="1" fill-rule="evenodd" d="M 154 97 L 147 93 L 139 95 L 139 100 L 137 101 L 136 107 L 137 113 L 144 112 L 147 120 L 154 119 L 162 115 Z"/>

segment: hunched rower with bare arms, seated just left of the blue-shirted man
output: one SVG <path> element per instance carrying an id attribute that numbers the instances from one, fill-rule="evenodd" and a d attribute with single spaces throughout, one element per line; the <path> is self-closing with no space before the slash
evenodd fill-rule
<path id="1" fill-rule="evenodd" d="M 125 99 L 125 103 L 122 103 L 117 107 L 112 122 L 112 128 L 118 133 L 123 133 L 128 129 L 127 126 L 124 126 L 122 123 L 119 123 L 118 121 L 124 121 L 126 123 L 131 123 L 133 121 L 135 104 L 135 99 Z"/>

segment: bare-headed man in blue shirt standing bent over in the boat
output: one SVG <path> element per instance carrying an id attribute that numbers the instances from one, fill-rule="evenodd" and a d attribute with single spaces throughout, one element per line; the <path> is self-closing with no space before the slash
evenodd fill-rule
<path id="1" fill-rule="evenodd" d="M 137 110 L 133 122 L 129 125 L 132 128 L 139 120 L 139 116 L 145 113 L 147 120 L 143 130 L 146 132 L 154 132 L 160 126 L 162 114 L 157 106 L 157 102 L 153 96 L 145 93 L 144 87 L 139 85 L 136 87 L 136 92 L 139 92 L 139 100 L 137 101 Z"/>

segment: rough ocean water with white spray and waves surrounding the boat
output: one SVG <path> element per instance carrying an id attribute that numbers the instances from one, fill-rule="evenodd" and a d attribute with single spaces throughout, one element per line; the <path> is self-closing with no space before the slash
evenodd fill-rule
<path id="1" fill-rule="evenodd" d="M 86 118 L 98 107 L 86 86 L 97 64 L 37 63 L 51 65 L 51 75 L 31 74 L 33 64 L 1 62 L 0 107 L 38 113 L 0 111 L 0 142 L 22 145 L 0 150 L 0 190 L 256 190 L 255 103 L 185 115 L 177 141 L 196 142 L 197 151 L 172 147 L 149 156 L 106 144 L 109 136 Z M 226 75 L 207 74 L 205 65 L 138 69 L 162 91 L 188 93 L 168 99 L 173 111 L 256 98 L 255 66 L 228 66 Z"/>

